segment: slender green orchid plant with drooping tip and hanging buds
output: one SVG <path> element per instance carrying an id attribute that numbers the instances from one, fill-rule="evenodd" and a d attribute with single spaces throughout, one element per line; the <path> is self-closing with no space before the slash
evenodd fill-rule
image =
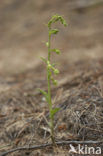
<path id="1" fill-rule="evenodd" d="M 51 54 L 55 52 L 56 54 L 60 54 L 59 49 L 52 49 L 51 48 L 51 36 L 56 35 L 59 30 L 58 29 L 52 29 L 52 24 L 60 22 L 65 27 L 67 26 L 66 21 L 64 18 L 60 15 L 54 15 L 49 20 L 47 27 L 48 27 L 48 42 L 46 42 L 46 46 L 48 48 L 48 58 L 45 59 L 41 57 L 43 62 L 46 64 L 46 70 L 47 70 L 47 83 L 48 83 L 48 91 L 45 92 L 41 89 L 39 91 L 45 96 L 45 99 L 49 106 L 49 127 L 50 127 L 50 133 L 51 133 L 51 141 L 54 144 L 55 143 L 55 136 L 54 136 L 54 116 L 59 111 L 59 108 L 54 108 L 51 98 L 51 82 L 53 82 L 54 85 L 57 85 L 57 80 L 53 78 L 53 74 L 57 75 L 59 74 L 59 70 L 55 67 L 55 63 L 51 63 Z"/>

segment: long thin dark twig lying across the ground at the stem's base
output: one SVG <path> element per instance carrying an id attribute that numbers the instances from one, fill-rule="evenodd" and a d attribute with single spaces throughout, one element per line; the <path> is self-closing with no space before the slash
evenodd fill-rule
<path id="1" fill-rule="evenodd" d="M 62 145 L 69 145 L 69 144 L 99 144 L 99 143 L 103 143 L 103 141 L 59 141 L 56 142 L 56 145 L 58 146 L 62 146 Z M 17 147 L 14 149 L 11 149 L 7 152 L 1 153 L 0 156 L 6 156 L 12 152 L 15 151 L 21 151 L 21 150 L 37 150 L 37 149 L 43 149 L 45 147 L 50 147 L 53 146 L 52 143 L 46 143 L 46 144 L 42 144 L 42 145 L 35 145 L 32 147 Z"/>

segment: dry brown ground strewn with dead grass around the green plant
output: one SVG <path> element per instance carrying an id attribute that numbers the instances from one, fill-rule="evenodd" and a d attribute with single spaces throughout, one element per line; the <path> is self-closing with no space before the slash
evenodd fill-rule
<path id="1" fill-rule="evenodd" d="M 37 88 L 47 90 L 39 57 L 47 56 L 45 24 L 55 13 L 64 15 L 68 23 L 66 28 L 56 25 L 60 32 L 52 40 L 53 47 L 62 51 L 53 55 L 60 69 L 58 86 L 52 87 L 54 105 L 60 107 L 55 116 L 56 141 L 103 141 L 103 1 L 97 1 L 0 1 L 1 154 L 50 142 L 48 106 Z M 98 146 L 103 149 L 103 143 Z M 8 155 L 74 154 L 68 145 Z"/>

